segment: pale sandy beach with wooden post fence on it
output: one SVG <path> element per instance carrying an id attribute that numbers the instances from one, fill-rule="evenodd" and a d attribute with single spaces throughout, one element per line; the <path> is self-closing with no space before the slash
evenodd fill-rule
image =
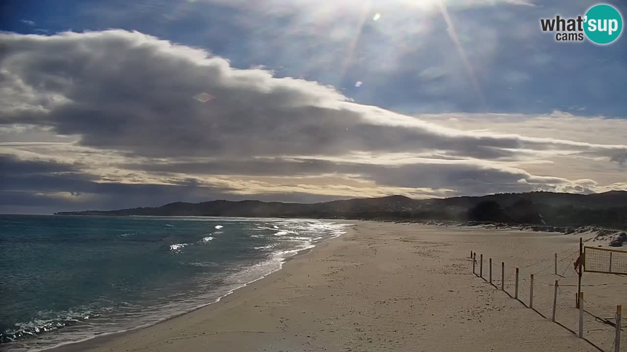
<path id="1" fill-rule="evenodd" d="M 572 269 L 577 236 L 351 224 L 346 234 L 293 257 L 282 270 L 219 303 L 55 352 L 613 351 L 614 328 L 603 319 L 613 319 L 616 304 L 627 306 L 627 277 L 584 273 L 589 313 L 586 339 L 577 338 Z M 472 274 L 470 251 L 483 254 L 485 280 Z M 562 276 L 554 275 L 556 252 Z M 498 287 L 487 282 L 489 257 Z M 500 290 L 501 262 L 507 293 Z M 520 300 L 511 297 L 516 266 Z M 527 308 L 531 273 L 535 311 Z M 552 323 L 556 279 L 557 323 Z M 625 330 L 621 344 L 627 350 Z"/>

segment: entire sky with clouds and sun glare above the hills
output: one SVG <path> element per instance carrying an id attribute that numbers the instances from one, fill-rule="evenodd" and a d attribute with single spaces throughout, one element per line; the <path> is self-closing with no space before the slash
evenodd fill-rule
<path id="1" fill-rule="evenodd" d="M 0 214 L 627 190 L 627 38 L 540 29 L 594 4 L 4 1 Z"/>

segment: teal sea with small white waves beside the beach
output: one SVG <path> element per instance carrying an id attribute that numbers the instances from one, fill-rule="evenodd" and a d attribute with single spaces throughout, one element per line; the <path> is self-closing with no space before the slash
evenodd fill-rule
<path id="1" fill-rule="evenodd" d="M 0 350 L 41 351 L 216 303 L 346 225 L 0 215 Z"/>

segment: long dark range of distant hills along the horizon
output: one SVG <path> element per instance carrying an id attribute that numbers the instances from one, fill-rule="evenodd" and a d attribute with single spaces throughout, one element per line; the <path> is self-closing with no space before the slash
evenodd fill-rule
<path id="1" fill-rule="evenodd" d="M 627 192 L 589 195 L 528 192 L 446 199 L 411 199 L 403 195 L 391 195 L 314 204 L 212 200 L 202 203 L 176 202 L 161 207 L 55 214 L 470 220 L 554 226 L 599 225 L 624 229 L 627 228 Z"/>

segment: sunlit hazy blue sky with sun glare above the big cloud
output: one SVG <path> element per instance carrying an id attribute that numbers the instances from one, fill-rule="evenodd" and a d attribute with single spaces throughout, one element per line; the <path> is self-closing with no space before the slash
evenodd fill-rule
<path id="1" fill-rule="evenodd" d="M 599 64 L 595 61 L 598 53 L 589 46 L 556 45 L 552 36 L 539 30 L 539 18 L 581 14 L 589 2 L 529 6 L 537 2 L 443 1 L 487 104 L 474 93 L 468 71 L 446 32 L 436 6 L 439 2 L 90 3 L 77 5 L 79 10 L 73 14 L 77 19 L 65 19 L 70 23 L 62 28 L 137 29 L 211 48 L 233 67 L 265 65 L 280 76 L 333 85 L 357 102 L 403 113 L 546 113 L 579 105 L 586 110 L 573 111 L 585 111 L 584 115 L 623 116 L 625 104 L 618 92 L 627 66 L 614 63 L 621 57 L 621 46 L 605 48 L 603 56 L 614 60 Z M 376 13 L 382 17 L 372 21 Z M 419 73 L 428 68 L 446 75 L 423 80 Z M 605 77 L 603 83 L 599 76 Z M 569 89 L 554 89 L 545 83 L 547 77 L 567 82 Z M 366 84 L 354 89 L 356 81 Z M 535 103 L 539 100 L 542 103 Z"/>

